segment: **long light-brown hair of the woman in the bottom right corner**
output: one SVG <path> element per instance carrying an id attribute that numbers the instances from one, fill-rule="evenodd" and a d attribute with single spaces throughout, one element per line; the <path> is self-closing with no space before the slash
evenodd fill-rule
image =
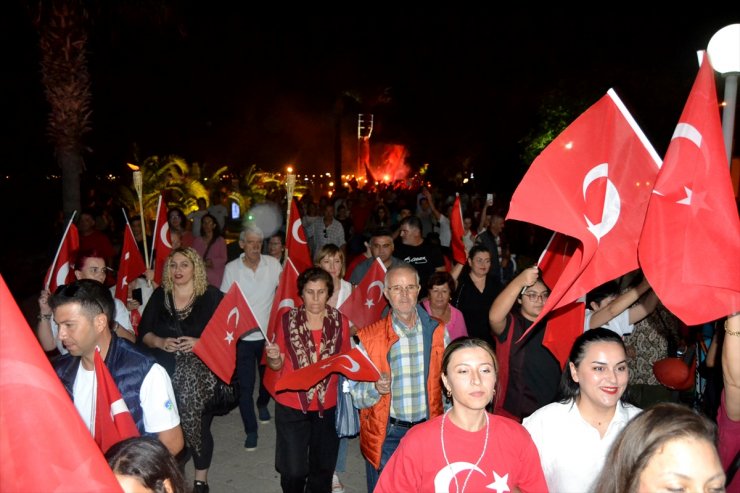
<path id="1" fill-rule="evenodd" d="M 634 493 L 650 459 L 668 442 L 690 438 L 716 446 L 717 428 L 688 406 L 655 404 L 627 423 L 609 449 L 595 493 Z"/>

